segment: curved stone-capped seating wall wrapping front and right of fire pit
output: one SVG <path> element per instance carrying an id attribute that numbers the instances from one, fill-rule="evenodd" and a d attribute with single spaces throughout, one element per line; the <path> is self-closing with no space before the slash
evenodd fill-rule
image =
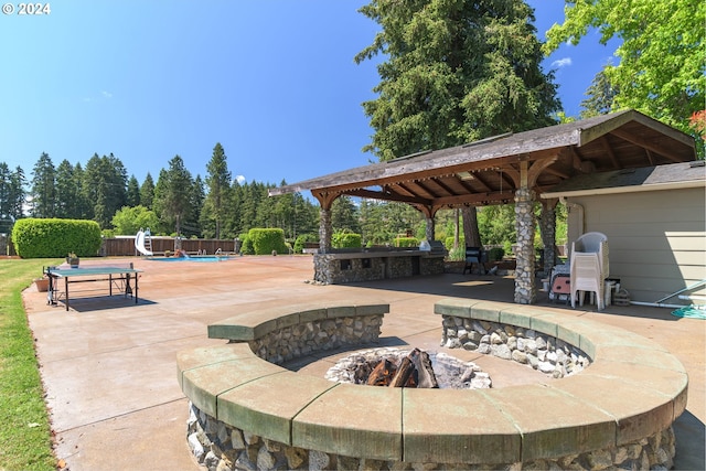
<path id="1" fill-rule="evenodd" d="M 500 389 L 336 384 L 250 349 L 280 319 L 289 328 L 309 314 L 296 321 L 286 310 L 266 319 L 248 313 L 210 327 L 215 336 L 247 343 L 179 354 L 192 450 L 210 469 L 671 467 L 671 426 L 685 409 L 687 376 L 654 342 L 517 304 L 447 299 L 435 312 L 533 330 L 586 352 L 592 364 L 561 379 Z"/>

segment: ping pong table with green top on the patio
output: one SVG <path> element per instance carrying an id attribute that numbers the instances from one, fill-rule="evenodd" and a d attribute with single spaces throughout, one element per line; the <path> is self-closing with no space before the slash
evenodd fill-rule
<path id="1" fill-rule="evenodd" d="M 63 300 L 68 311 L 68 286 L 72 283 L 93 282 L 93 281 L 108 281 L 108 295 L 113 296 L 114 288 L 122 293 L 125 297 L 132 296 L 135 303 L 138 301 L 138 274 L 142 270 L 132 267 L 132 264 L 127 264 L 125 267 L 108 266 L 108 265 L 94 265 L 78 268 L 61 268 L 61 267 L 47 267 L 44 271 L 49 278 L 49 291 L 46 293 L 46 300 L 50 304 L 56 304 Z M 64 280 L 64 289 L 60 286 L 60 280 Z M 135 289 L 132 288 L 132 280 L 135 280 Z"/>

